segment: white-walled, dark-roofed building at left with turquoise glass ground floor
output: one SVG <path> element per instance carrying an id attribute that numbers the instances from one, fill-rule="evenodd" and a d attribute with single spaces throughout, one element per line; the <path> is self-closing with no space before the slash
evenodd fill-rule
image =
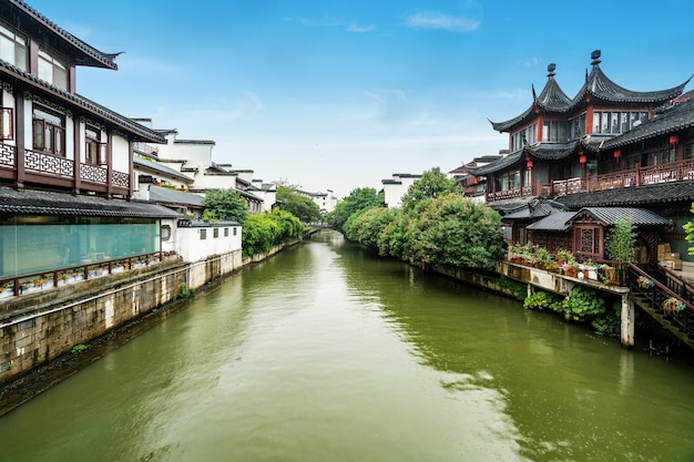
<path id="1" fill-rule="evenodd" d="M 0 278 L 161 253 L 176 214 L 133 198 L 133 144 L 164 137 L 76 93 L 101 52 L 0 0 Z"/>

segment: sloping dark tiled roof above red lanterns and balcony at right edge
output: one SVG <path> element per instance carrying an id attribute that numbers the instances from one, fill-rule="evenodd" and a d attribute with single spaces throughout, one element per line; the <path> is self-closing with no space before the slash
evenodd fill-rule
<path id="1" fill-rule="evenodd" d="M 626 133 L 606 141 L 602 150 L 612 151 L 616 147 L 637 143 L 643 140 L 674 133 L 694 126 L 694 100 L 671 106 L 662 114 L 647 120 Z"/>

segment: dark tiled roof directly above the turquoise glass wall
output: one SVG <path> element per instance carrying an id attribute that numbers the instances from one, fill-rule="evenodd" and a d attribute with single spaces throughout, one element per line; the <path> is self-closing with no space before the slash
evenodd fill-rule
<path id="1" fill-rule="evenodd" d="M 72 215 L 130 218 L 177 218 L 180 214 L 146 202 L 0 187 L 0 213 L 12 215 Z"/>

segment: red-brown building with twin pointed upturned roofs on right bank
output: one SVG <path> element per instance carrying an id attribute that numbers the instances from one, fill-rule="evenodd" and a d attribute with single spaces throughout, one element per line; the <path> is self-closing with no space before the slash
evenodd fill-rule
<path id="1" fill-rule="evenodd" d="M 600 51 L 591 58 L 592 70 L 572 99 L 558 84 L 557 68 L 550 64 L 547 84 L 539 95 L 533 89 L 531 105 L 511 120 L 492 122 L 494 130 L 509 133 L 509 154 L 468 172 L 487 185 L 486 199 L 506 215 L 512 240 L 525 238 L 532 201 L 551 198 L 573 213 L 583 207 L 656 212 L 673 225 L 659 229 L 660 239 L 671 240 L 673 249 L 685 256 L 687 244 L 678 225 L 687 220 L 694 201 L 694 103 L 683 95 L 688 80 L 665 90 L 632 91 L 604 74 Z M 544 216 L 565 211 L 547 212 Z M 631 212 L 636 217 L 647 215 Z M 521 219 L 514 220 L 514 215 Z M 552 232 L 567 226 L 570 249 L 605 257 L 600 243 L 610 220 L 601 222 L 600 233 L 554 222 Z M 589 232 L 592 237 L 583 236 Z M 647 233 L 643 253 L 644 259 L 652 260 L 659 237 L 653 237 L 653 229 Z M 582 247 L 588 240 L 593 243 L 591 251 Z"/>

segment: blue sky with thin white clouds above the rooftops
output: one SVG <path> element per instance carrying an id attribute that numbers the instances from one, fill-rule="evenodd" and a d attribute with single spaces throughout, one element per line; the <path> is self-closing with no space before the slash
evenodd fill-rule
<path id="1" fill-rule="evenodd" d="M 28 0 L 119 71 L 78 92 L 213 157 L 304 189 L 380 189 L 506 148 L 488 121 L 524 111 L 557 63 L 578 92 L 590 54 L 630 90 L 694 73 L 692 0 Z M 692 90 L 688 84 L 685 91 Z"/>

